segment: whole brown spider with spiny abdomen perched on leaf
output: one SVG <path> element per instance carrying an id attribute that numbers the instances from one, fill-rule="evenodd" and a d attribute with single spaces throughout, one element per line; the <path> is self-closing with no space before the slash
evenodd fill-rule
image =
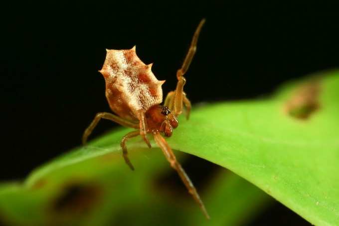
<path id="1" fill-rule="evenodd" d="M 106 81 L 106 97 L 110 108 L 117 115 L 101 112 L 97 113 L 92 123 L 85 130 L 82 143 L 85 144 L 100 119 L 108 119 L 122 126 L 136 129 L 126 134 L 121 141 L 123 157 L 127 165 L 134 170 L 128 158 L 126 141 L 140 135 L 149 148 L 151 144 L 147 134 L 151 133 L 155 142 L 164 152 L 170 166 L 174 168 L 186 186 L 188 192 L 198 203 L 203 214 L 209 219 L 207 211 L 188 176 L 177 162 L 172 149 L 161 133 L 166 137 L 172 135 L 173 129 L 178 126 L 177 116 L 182 113 L 183 105 L 186 108 L 186 119 L 189 118 L 191 104 L 183 86 L 189 64 L 196 52 L 196 43 L 199 32 L 205 19 L 197 26 L 191 45 L 180 69 L 176 72 L 176 89 L 168 93 L 163 105 L 162 85 L 165 81 L 159 81 L 152 73 L 152 64 L 144 64 L 136 54 L 135 46 L 132 49 L 114 50 L 106 49 L 107 55 L 102 69 L 99 71 Z"/>

